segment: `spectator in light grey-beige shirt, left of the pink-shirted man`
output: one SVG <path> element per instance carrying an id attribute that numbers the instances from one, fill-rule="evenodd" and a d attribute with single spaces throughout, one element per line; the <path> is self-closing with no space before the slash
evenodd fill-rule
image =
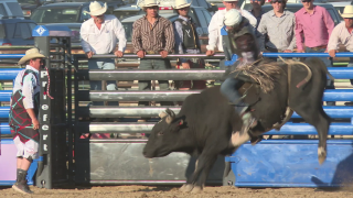
<path id="1" fill-rule="evenodd" d="M 271 0 L 274 10 L 268 11 L 263 15 L 261 22 L 258 25 L 259 48 L 265 52 L 285 52 L 292 53 L 296 46 L 296 16 L 290 11 L 285 11 L 285 0 Z M 268 41 L 265 42 L 265 36 Z"/>

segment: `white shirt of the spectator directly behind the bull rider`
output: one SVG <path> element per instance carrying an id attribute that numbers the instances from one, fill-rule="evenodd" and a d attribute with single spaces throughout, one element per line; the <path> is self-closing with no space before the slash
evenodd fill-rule
<path id="1" fill-rule="evenodd" d="M 246 10 L 239 10 L 242 15 L 249 20 L 249 23 L 256 28 L 257 20 L 256 18 Z M 213 14 L 210 25 L 208 25 L 208 45 L 206 46 L 207 51 L 214 51 L 215 47 L 218 51 L 223 52 L 222 45 L 222 36 L 221 36 L 221 29 L 224 26 L 224 16 L 227 11 L 218 10 L 215 14 Z"/>

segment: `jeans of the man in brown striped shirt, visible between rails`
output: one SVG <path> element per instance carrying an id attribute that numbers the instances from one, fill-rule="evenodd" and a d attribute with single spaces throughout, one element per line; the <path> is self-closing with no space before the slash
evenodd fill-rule
<path id="1" fill-rule="evenodd" d="M 169 59 L 141 59 L 140 69 L 170 69 Z M 158 80 L 160 90 L 168 90 L 169 82 L 168 80 Z M 139 80 L 139 90 L 151 90 L 151 80 Z M 139 105 L 148 106 L 148 101 L 139 101 Z M 172 106 L 172 102 L 161 101 L 161 106 Z"/>

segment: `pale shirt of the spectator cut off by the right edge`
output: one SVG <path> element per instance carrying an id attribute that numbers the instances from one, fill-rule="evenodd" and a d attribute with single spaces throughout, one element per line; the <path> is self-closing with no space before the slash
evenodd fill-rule
<path id="1" fill-rule="evenodd" d="M 339 50 L 339 44 L 342 43 L 345 48 L 350 52 L 353 52 L 353 32 L 349 32 L 345 28 L 345 22 L 338 24 L 329 40 L 328 50 Z"/>

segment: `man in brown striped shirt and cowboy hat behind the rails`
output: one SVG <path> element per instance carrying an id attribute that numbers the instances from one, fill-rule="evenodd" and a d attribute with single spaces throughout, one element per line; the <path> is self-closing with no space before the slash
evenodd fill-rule
<path id="1" fill-rule="evenodd" d="M 158 14 L 159 6 L 156 0 L 146 0 L 142 6 L 146 15 L 132 24 L 132 46 L 140 61 L 140 69 L 171 68 L 170 61 L 165 58 L 174 47 L 174 32 L 172 23 Z M 160 54 L 163 59 L 147 59 L 146 54 Z M 160 90 L 169 88 L 168 80 L 159 80 Z M 140 80 L 139 90 L 151 89 L 150 80 Z M 140 101 L 139 105 L 148 106 Z M 168 106 L 170 102 L 161 102 Z"/>

